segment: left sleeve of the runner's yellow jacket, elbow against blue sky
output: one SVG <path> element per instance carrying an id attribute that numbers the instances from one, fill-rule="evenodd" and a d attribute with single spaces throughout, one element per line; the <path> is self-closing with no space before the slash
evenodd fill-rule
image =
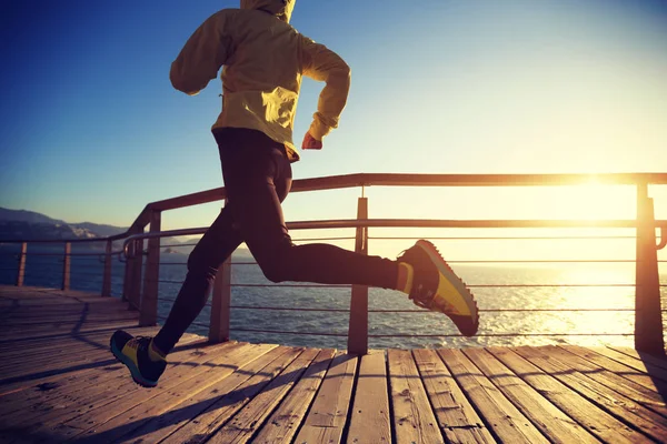
<path id="1" fill-rule="evenodd" d="M 208 18 L 171 63 L 169 79 L 179 91 L 196 95 L 218 77 L 228 58 L 227 13 L 220 11 Z"/>

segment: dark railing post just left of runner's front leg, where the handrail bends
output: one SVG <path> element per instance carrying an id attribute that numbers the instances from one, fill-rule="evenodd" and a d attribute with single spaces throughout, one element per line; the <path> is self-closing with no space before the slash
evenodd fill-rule
<path id="1" fill-rule="evenodd" d="M 150 232 L 159 233 L 161 213 L 150 212 Z M 148 256 L 146 259 L 146 273 L 143 276 L 143 294 L 141 296 L 141 312 L 139 325 L 149 326 L 158 323 L 158 280 L 160 279 L 160 238 L 148 240 Z"/>

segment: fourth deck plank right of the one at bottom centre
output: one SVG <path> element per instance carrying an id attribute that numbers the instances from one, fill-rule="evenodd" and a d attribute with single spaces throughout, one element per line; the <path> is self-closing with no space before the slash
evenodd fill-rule
<path id="1" fill-rule="evenodd" d="M 547 443 L 544 435 L 459 350 L 438 354 L 496 437 L 504 443 Z"/>

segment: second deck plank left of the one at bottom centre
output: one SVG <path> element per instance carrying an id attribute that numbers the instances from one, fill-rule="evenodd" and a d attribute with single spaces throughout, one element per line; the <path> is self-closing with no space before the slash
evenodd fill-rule
<path id="1" fill-rule="evenodd" d="M 207 443 L 241 444 L 250 441 L 282 397 L 306 372 L 319 350 L 307 349 Z"/>

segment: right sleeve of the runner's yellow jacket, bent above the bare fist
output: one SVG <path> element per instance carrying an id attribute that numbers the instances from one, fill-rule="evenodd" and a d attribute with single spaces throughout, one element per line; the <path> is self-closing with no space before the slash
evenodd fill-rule
<path id="1" fill-rule="evenodd" d="M 310 135 L 321 140 L 338 128 L 350 90 L 350 67 L 336 52 L 308 38 L 303 38 L 302 57 L 303 75 L 326 82 L 309 130 Z"/>

